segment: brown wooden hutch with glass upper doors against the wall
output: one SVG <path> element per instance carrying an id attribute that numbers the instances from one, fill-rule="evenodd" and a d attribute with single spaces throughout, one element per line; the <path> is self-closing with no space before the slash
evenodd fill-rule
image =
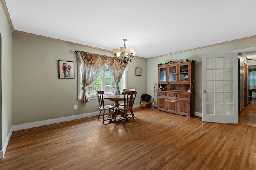
<path id="1" fill-rule="evenodd" d="M 185 61 L 158 65 L 157 109 L 187 117 L 194 116 L 194 64 Z"/>

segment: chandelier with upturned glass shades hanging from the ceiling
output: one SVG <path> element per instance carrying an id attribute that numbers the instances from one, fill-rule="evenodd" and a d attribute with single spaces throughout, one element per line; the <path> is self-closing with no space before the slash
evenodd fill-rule
<path id="1" fill-rule="evenodd" d="M 125 47 L 125 41 L 127 41 L 127 39 L 123 39 L 124 41 L 124 47 L 120 47 L 120 51 L 118 51 L 118 49 L 113 49 L 113 53 L 114 53 L 114 59 L 116 61 L 118 61 L 119 63 L 121 63 L 122 65 L 128 64 L 128 61 L 132 62 L 134 61 L 134 56 L 136 51 L 134 51 L 134 48 L 130 48 L 130 54 L 126 52 L 126 47 Z"/>

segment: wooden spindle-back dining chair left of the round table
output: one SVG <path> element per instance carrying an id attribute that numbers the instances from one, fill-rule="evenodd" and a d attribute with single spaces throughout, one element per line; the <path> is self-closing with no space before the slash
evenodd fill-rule
<path id="1" fill-rule="evenodd" d="M 104 105 L 104 98 L 103 98 L 103 94 L 104 94 L 104 91 L 95 91 L 96 92 L 96 95 L 97 95 L 97 98 L 98 98 L 98 102 L 99 102 L 99 109 L 100 109 L 100 114 L 101 114 L 101 111 L 103 110 L 103 119 L 102 119 L 102 124 L 104 124 L 104 120 L 112 120 L 112 119 L 116 119 L 116 116 L 111 116 L 111 111 L 112 110 L 112 114 L 114 114 L 114 106 L 112 105 Z M 105 115 L 105 110 L 108 110 L 109 113 L 108 115 Z M 99 118 L 101 117 L 100 114 L 98 115 L 98 120 Z"/>

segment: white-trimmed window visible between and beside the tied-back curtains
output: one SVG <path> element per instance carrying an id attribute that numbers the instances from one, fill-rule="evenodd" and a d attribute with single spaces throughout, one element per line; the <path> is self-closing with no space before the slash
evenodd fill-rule
<path id="1" fill-rule="evenodd" d="M 118 85 L 120 92 L 122 92 L 122 89 L 126 88 L 126 73 L 123 75 Z M 78 100 L 81 100 L 81 95 L 83 92 L 82 87 L 82 78 L 80 76 L 80 69 L 78 69 Z M 105 92 L 105 94 L 114 94 L 115 82 L 111 77 L 110 70 L 102 70 L 95 82 L 86 87 L 86 94 L 88 95 L 89 100 L 97 98 L 95 90 L 102 90 Z"/>

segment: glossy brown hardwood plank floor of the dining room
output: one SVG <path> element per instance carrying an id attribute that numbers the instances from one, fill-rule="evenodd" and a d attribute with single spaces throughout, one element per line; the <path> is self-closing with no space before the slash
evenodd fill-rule
<path id="1" fill-rule="evenodd" d="M 136 122 L 102 125 L 97 117 L 15 131 L 3 170 L 254 170 L 256 128 L 202 122 L 151 108 Z"/>

